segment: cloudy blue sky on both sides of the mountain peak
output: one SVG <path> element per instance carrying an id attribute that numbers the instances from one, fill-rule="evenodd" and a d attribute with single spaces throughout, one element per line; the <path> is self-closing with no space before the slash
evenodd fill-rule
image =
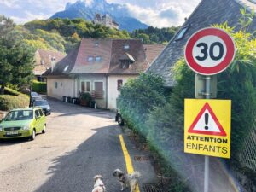
<path id="1" fill-rule="evenodd" d="M 65 9 L 66 3 L 77 0 L 0 0 L 0 15 L 11 17 L 15 23 L 48 19 Z M 84 0 L 87 2 L 93 0 Z M 148 26 L 179 26 L 193 12 L 200 0 L 106 0 L 126 4 L 131 15 Z"/>

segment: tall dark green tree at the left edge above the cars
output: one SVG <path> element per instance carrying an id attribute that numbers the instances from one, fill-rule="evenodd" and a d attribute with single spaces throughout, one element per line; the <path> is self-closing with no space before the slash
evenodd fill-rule
<path id="1" fill-rule="evenodd" d="M 30 84 L 33 69 L 33 50 L 22 41 L 20 33 L 15 32 L 13 20 L 1 16 L 0 36 L 0 95 L 4 93 L 6 84 L 18 87 Z"/>

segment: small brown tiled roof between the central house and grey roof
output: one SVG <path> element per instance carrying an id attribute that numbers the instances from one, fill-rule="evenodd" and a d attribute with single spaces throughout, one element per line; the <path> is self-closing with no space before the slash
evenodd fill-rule
<path id="1" fill-rule="evenodd" d="M 161 51 L 165 49 L 165 44 L 144 44 L 147 60 L 151 64 Z"/>

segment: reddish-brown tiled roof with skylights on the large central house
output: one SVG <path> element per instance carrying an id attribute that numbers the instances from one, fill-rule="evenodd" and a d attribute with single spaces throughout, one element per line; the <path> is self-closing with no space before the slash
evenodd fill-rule
<path id="1" fill-rule="evenodd" d="M 150 53 L 153 54 L 150 58 L 154 59 L 156 54 L 160 53 L 160 49 Z M 96 57 L 99 61 L 96 61 Z M 129 67 L 122 66 L 124 59 L 130 62 Z M 44 75 L 138 74 L 148 67 L 149 63 L 141 40 L 84 38 L 77 49 L 56 63 L 53 72 L 49 70 Z"/>

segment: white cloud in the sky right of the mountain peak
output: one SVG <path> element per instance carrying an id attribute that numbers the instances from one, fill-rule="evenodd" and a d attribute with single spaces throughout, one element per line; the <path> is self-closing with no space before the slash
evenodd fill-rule
<path id="1" fill-rule="evenodd" d="M 108 0 L 108 3 L 123 3 L 132 16 L 149 26 L 179 26 L 189 17 L 200 0 Z"/>

